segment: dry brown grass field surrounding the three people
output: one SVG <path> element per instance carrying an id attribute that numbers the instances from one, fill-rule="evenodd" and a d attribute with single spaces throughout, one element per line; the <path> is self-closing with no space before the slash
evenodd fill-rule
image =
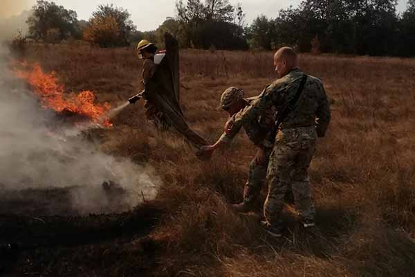
<path id="1" fill-rule="evenodd" d="M 227 116 L 216 110 L 221 92 L 260 93 L 275 78 L 272 56 L 182 51 L 181 104 L 190 125 L 214 142 Z M 33 46 L 25 59 L 55 71 L 67 92 L 91 90 L 113 107 L 142 89 L 132 49 Z M 156 170 L 163 181 L 156 199 L 108 215 L 93 230 L 83 225 L 88 217 L 71 219 L 66 232 L 44 227 L 45 237 L 64 235 L 21 253 L 11 276 L 415 276 L 415 60 L 302 55 L 300 65 L 322 79 L 332 102 L 329 132 L 311 164 L 315 230 L 300 228 L 286 206 L 288 229 L 273 240 L 255 217 L 230 210 L 255 153 L 245 134 L 199 161 L 180 136 L 146 123 L 139 103 L 93 135 L 104 152 Z M 117 229 L 120 218 L 132 217 Z M 151 222 L 145 233 L 141 218 Z"/>

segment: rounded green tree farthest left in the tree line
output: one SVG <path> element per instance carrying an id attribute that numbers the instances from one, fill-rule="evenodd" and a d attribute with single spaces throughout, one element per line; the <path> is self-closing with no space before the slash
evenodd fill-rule
<path id="1" fill-rule="evenodd" d="M 54 41 L 59 41 L 71 36 L 80 37 L 76 12 L 57 6 L 54 2 L 38 0 L 33 6 L 33 15 L 26 22 L 33 39 L 53 36 Z"/>

